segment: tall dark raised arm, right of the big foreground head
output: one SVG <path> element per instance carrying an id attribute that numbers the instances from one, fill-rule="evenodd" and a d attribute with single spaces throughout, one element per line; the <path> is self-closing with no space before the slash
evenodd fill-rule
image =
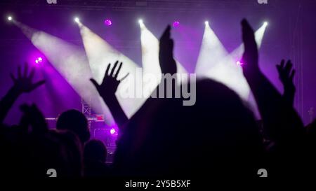
<path id="1" fill-rule="evenodd" d="M 242 20 L 244 41 L 244 76 L 251 87 L 261 113 L 265 130 L 272 141 L 284 143 L 294 141 L 303 135 L 303 123 L 293 107 L 285 104 L 281 94 L 270 83 L 258 66 L 258 48 L 254 30 Z"/>

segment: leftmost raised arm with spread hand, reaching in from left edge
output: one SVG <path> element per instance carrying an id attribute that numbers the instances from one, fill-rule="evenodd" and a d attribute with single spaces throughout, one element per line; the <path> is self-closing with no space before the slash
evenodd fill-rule
<path id="1" fill-rule="evenodd" d="M 22 93 L 28 93 L 35 90 L 40 85 L 45 83 L 45 80 L 40 80 L 37 83 L 32 83 L 32 79 L 34 77 L 35 70 L 32 71 L 28 75 L 28 66 L 25 64 L 24 72 L 22 74 L 21 67 L 18 67 L 18 77 L 15 78 L 11 73 L 11 78 L 13 80 L 13 87 L 8 91 L 8 93 L 4 96 L 0 101 L 0 123 L 4 122 L 8 111 L 13 106 L 14 102 Z"/>

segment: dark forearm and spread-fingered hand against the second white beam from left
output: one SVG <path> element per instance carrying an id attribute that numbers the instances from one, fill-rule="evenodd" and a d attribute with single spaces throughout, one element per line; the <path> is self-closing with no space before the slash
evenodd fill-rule
<path id="1" fill-rule="evenodd" d="M 119 71 L 121 70 L 122 62 L 119 64 L 119 69 L 117 69 L 117 72 L 114 73 L 115 69 L 117 68 L 117 64 L 119 61 L 115 62 L 112 70 L 110 71 L 111 64 L 107 65 L 107 70 L 105 71 L 105 76 L 103 78 L 103 82 L 98 85 L 96 80 L 90 79 L 93 85 L 96 86 L 96 89 L 98 90 L 100 96 L 105 101 L 105 104 L 109 107 L 113 118 L 115 122 L 117 123 L 118 127 L 122 129 L 124 125 L 129 121 L 129 118 L 125 115 L 123 109 L 119 105 L 119 101 L 117 100 L 117 97 L 115 96 L 115 92 L 117 92 L 117 87 L 119 86 L 119 83 L 121 83 L 121 80 L 124 80 L 129 73 L 124 76 L 121 80 L 117 80 L 117 76 L 119 76 Z"/>

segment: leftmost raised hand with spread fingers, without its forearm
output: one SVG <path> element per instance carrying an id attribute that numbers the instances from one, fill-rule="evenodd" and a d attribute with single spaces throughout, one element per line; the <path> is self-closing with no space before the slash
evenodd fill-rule
<path id="1" fill-rule="evenodd" d="M 43 85 L 45 83 L 45 80 L 39 80 L 37 83 L 33 83 L 33 77 L 34 77 L 35 69 L 32 69 L 32 71 L 28 75 L 28 64 L 25 64 L 24 73 L 22 74 L 21 66 L 18 66 L 18 78 L 15 78 L 13 73 L 10 74 L 12 80 L 13 80 L 13 89 L 16 93 L 22 94 L 24 92 L 32 92 L 32 90 L 35 90 L 37 87 Z"/>

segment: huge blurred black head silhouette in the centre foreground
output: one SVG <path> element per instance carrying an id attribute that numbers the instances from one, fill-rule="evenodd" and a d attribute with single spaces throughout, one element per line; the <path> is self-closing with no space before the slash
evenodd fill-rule
<path id="1" fill-rule="evenodd" d="M 225 176 L 232 167 L 251 172 L 262 148 L 251 111 L 214 80 L 197 80 L 196 95 L 194 106 L 183 106 L 182 99 L 151 99 L 140 108 L 118 143 L 123 174 L 185 176 L 208 169 Z"/>

